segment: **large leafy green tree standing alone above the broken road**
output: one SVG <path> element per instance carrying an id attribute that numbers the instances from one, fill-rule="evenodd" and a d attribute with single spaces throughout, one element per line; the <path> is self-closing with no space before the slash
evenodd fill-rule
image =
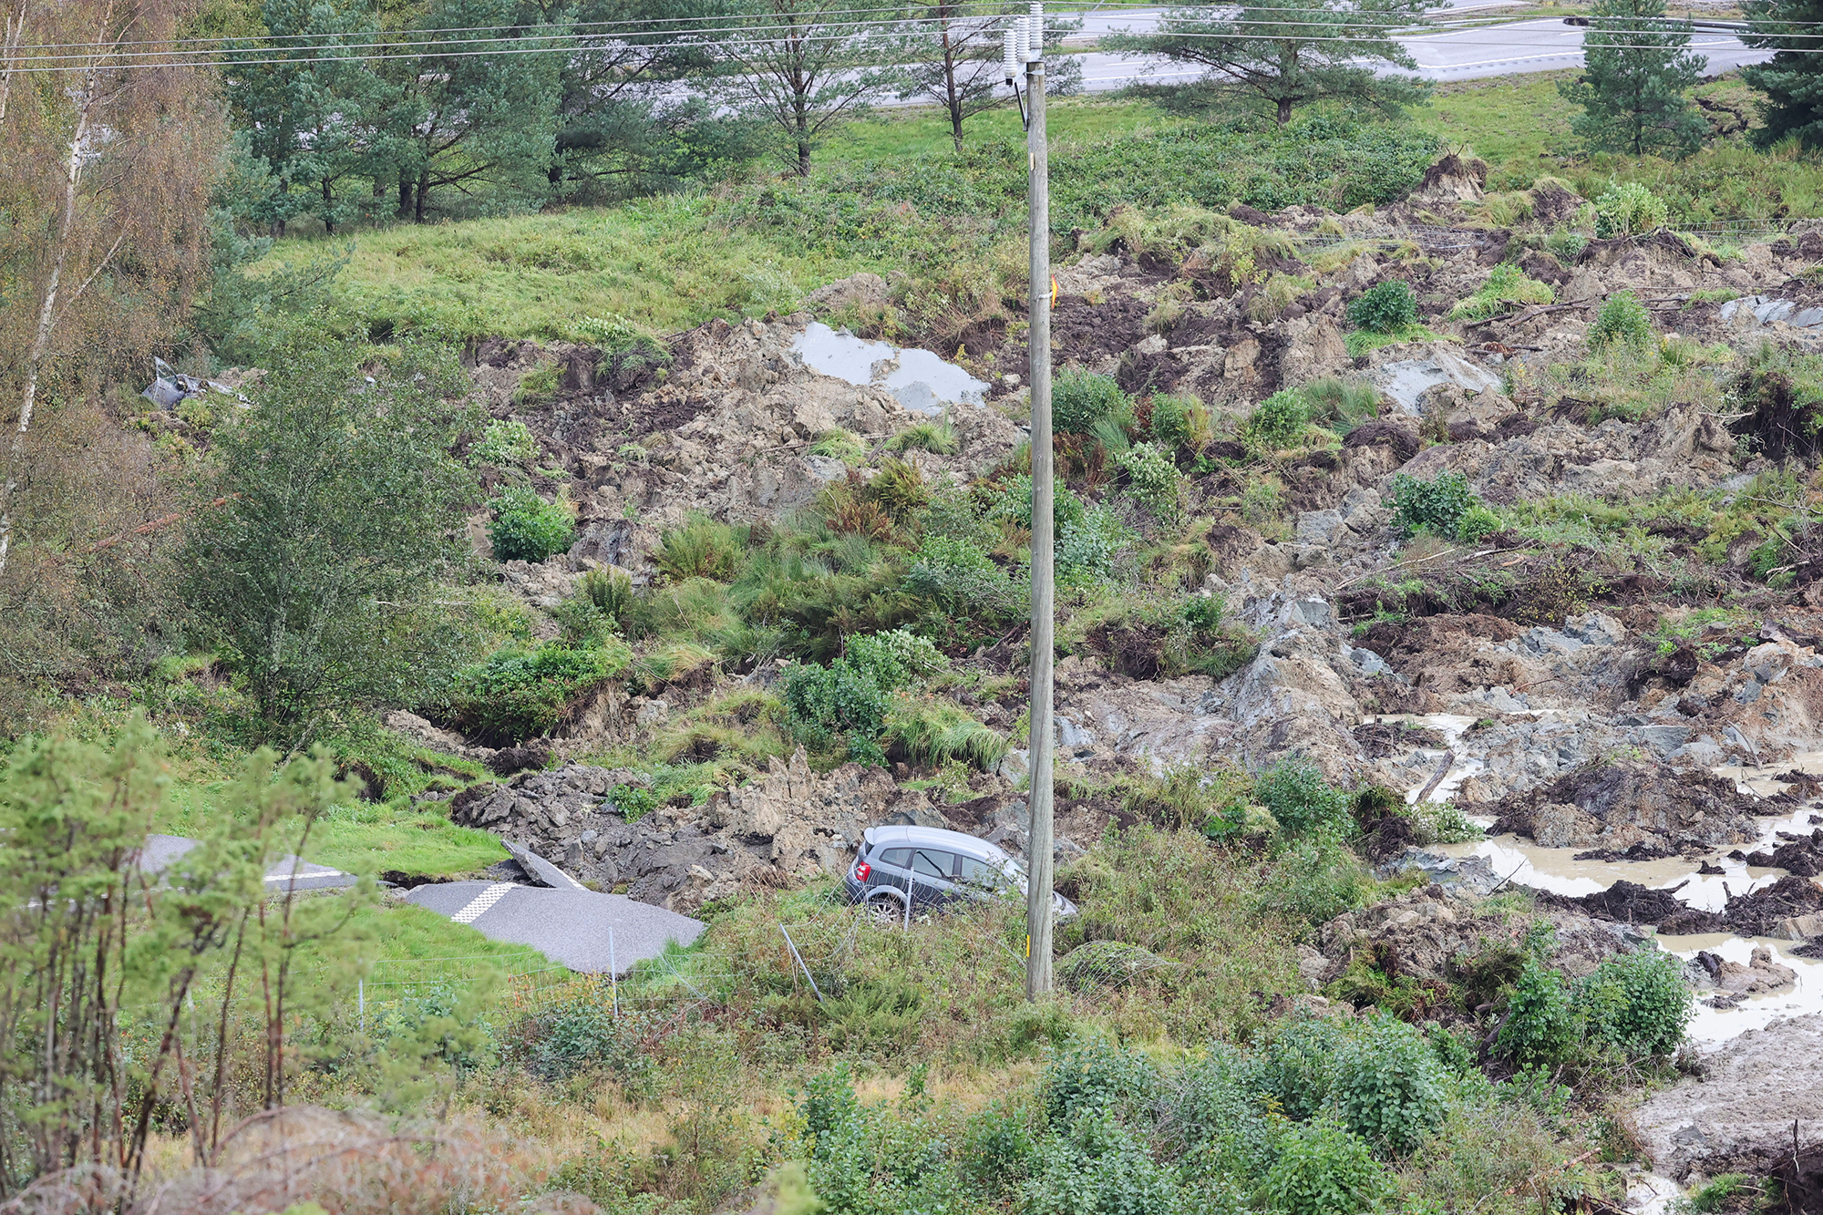
<path id="1" fill-rule="evenodd" d="M 414 704 L 461 659 L 428 606 L 479 496 L 450 458 L 463 387 L 416 347 L 303 328 L 217 429 L 219 505 L 193 513 L 184 567 L 266 737 L 295 748 L 337 710 Z"/>

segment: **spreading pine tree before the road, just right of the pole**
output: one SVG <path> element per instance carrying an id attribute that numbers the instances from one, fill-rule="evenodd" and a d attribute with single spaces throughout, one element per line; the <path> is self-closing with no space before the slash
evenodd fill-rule
<path id="1" fill-rule="evenodd" d="M 1393 35 L 1422 24 L 1424 9 L 1426 0 L 1278 0 L 1238 11 L 1174 7 L 1159 20 L 1158 33 L 1110 35 L 1101 47 L 1201 64 L 1209 69 L 1207 86 L 1263 100 L 1280 126 L 1291 122 L 1296 106 L 1323 99 L 1396 113 L 1424 100 L 1429 84 L 1382 77 L 1365 64 L 1416 68 Z"/>

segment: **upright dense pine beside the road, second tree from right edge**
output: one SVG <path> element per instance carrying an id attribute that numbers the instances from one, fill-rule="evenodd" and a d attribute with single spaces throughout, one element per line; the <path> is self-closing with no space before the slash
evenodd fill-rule
<path id="1" fill-rule="evenodd" d="M 1570 130 L 1595 151 L 1690 155 L 1708 124 L 1684 89 L 1703 75 L 1690 24 L 1668 20 L 1664 0 L 1595 0 L 1582 40 L 1582 77 L 1559 84 L 1582 106 Z"/>

